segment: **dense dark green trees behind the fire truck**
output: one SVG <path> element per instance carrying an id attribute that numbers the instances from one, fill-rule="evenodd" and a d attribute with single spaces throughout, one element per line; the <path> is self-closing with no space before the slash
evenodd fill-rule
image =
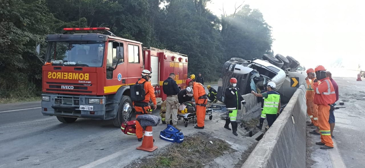
<path id="1" fill-rule="evenodd" d="M 65 27 L 109 27 L 144 47 L 189 57 L 189 74 L 219 78 L 230 57 L 250 60 L 271 53 L 271 30 L 248 5 L 219 18 L 210 0 L 3 0 L 0 6 L 0 97 L 32 97 L 41 91 L 35 44 Z M 164 3 L 165 7 L 160 8 Z M 44 43 L 41 43 L 45 48 Z M 21 92 L 20 92 L 21 91 Z"/>

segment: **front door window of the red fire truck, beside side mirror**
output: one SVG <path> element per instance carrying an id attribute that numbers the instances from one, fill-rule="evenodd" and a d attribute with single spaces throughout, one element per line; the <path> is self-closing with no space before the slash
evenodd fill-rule
<path id="1" fill-rule="evenodd" d="M 107 55 L 107 68 L 115 67 L 118 59 L 116 59 L 116 48 L 120 46 L 123 48 L 123 43 L 118 43 L 116 41 L 108 43 L 108 55 Z M 119 60 L 118 64 L 124 63 L 124 60 Z M 113 72 L 107 71 L 107 79 L 113 79 Z"/>

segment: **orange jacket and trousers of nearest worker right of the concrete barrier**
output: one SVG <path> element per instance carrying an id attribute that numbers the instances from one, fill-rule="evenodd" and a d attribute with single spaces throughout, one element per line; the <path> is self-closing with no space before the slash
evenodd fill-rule
<path id="1" fill-rule="evenodd" d="M 319 80 L 313 85 L 315 91 L 314 104 L 318 105 L 318 127 L 320 135 L 320 140 L 324 145 L 328 147 L 333 147 L 333 141 L 331 138 L 330 123 L 328 119 L 330 118 L 330 104 L 335 103 L 336 93 L 329 77 Z"/>

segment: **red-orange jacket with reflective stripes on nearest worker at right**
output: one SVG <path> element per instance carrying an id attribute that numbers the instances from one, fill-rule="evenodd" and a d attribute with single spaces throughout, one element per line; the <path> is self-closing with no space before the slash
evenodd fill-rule
<path id="1" fill-rule="evenodd" d="M 328 105 L 333 104 L 336 101 L 335 89 L 330 81 L 329 77 L 319 80 L 320 84 L 314 83 L 314 104 Z"/>

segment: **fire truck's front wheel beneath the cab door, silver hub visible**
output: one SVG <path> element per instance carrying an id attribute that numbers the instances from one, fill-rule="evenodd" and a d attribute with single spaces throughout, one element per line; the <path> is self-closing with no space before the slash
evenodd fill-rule
<path id="1" fill-rule="evenodd" d="M 129 96 L 122 96 L 119 103 L 118 112 L 113 119 L 115 127 L 120 127 L 124 121 L 128 121 L 132 114 L 132 100 Z"/>

